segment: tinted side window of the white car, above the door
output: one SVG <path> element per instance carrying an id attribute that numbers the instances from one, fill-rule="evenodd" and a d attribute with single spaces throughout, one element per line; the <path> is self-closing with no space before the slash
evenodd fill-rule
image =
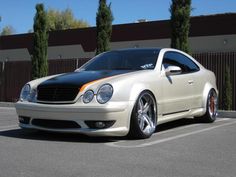
<path id="1" fill-rule="evenodd" d="M 162 61 L 164 68 L 178 66 L 182 74 L 199 71 L 199 67 L 187 56 L 177 52 L 166 52 Z"/>

